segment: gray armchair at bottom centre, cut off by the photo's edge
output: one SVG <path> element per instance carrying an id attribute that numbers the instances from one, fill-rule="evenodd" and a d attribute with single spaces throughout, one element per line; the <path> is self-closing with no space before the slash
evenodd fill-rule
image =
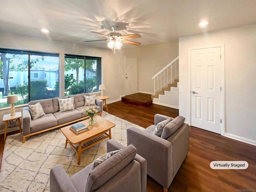
<path id="1" fill-rule="evenodd" d="M 70 178 L 61 165 L 50 171 L 50 192 L 146 192 L 146 160 L 136 148 L 107 141 L 107 152 L 123 149 L 91 170 L 89 164 Z"/>

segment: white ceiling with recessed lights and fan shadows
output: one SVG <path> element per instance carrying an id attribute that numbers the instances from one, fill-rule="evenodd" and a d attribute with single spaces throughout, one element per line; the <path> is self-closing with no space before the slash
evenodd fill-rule
<path id="1" fill-rule="evenodd" d="M 0 13 L 2 31 L 106 48 L 106 41 L 84 41 L 104 39 L 90 32 L 108 34 L 112 25 L 148 45 L 255 24 L 256 0 L 0 0 Z M 199 27 L 204 20 L 208 26 Z"/>

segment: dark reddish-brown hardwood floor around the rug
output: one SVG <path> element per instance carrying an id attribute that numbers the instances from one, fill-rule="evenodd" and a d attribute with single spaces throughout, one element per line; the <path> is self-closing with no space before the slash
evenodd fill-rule
<path id="1" fill-rule="evenodd" d="M 108 104 L 108 112 L 144 128 L 154 124 L 156 113 L 178 116 L 176 109 L 155 104 L 137 106 L 122 101 Z M 4 149 L 3 140 L 1 134 L 0 158 Z M 249 167 L 246 170 L 212 170 L 210 162 L 213 160 L 247 161 Z M 163 192 L 162 186 L 149 176 L 147 181 L 147 192 Z M 256 146 L 190 127 L 190 152 L 168 192 L 237 191 L 256 192 Z"/>

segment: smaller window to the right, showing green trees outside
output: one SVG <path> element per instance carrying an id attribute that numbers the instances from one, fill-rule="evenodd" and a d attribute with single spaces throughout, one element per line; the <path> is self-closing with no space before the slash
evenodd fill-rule
<path id="1" fill-rule="evenodd" d="M 65 95 L 96 92 L 100 84 L 101 58 L 65 55 Z"/>

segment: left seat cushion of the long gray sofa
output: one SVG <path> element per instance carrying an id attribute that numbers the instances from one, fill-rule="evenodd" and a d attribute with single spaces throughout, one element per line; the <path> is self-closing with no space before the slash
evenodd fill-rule
<path id="1" fill-rule="evenodd" d="M 46 114 L 31 121 L 30 132 L 38 132 L 51 127 L 57 126 L 57 119 L 52 113 Z"/>

